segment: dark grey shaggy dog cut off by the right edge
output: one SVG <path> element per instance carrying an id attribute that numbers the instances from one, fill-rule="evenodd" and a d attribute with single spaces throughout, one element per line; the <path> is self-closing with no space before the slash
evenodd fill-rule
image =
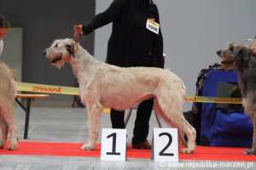
<path id="1" fill-rule="evenodd" d="M 245 150 L 245 155 L 256 155 L 256 54 L 246 45 L 238 45 L 233 42 L 227 48 L 217 51 L 218 56 L 223 59 L 223 65 L 232 64 L 238 71 L 238 85 L 245 112 L 253 121 L 253 145 Z"/>

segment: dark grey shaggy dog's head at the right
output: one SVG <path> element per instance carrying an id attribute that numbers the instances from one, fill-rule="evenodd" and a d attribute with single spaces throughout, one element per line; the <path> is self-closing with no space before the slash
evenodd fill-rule
<path id="1" fill-rule="evenodd" d="M 241 70 L 247 66 L 252 49 L 244 44 L 230 42 L 226 48 L 218 50 L 217 54 L 222 59 L 221 64 L 224 65 L 224 70 Z"/>

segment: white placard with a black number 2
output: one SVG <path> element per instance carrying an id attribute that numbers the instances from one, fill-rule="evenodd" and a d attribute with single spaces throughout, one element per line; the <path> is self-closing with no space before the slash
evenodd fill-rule
<path id="1" fill-rule="evenodd" d="M 154 128 L 154 161 L 178 161 L 177 128 Z"/>

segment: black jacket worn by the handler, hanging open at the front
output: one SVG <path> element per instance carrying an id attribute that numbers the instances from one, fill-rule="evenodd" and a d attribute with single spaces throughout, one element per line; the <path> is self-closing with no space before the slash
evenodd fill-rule
<path id="1" fill-rule="evenodd" d="M 107 10 L 90 20 L 83 26 L 84 34 L 113 22 L 112 34 L 108 40 L 108 54 L 106 62 L 111 65 L 128 67 L 129 65 L 129 44 L 131 32 L 131 19 L 135 8 L 141 1 L 148 0 L 113 0 Z M 155 22 L 160 23 L 159 12 L 153 1 L 149 0 L 149 9 L 157 16 Z M 161 31 L 155 35 L 154 48 L 152 49 L 152 65 L 163 68 L 163 37 Z"/>

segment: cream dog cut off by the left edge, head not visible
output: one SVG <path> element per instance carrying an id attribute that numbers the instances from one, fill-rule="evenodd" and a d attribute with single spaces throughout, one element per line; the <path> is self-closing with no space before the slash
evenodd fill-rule
<path id="1" fill-rule="evenodd" d="M 15 71 L 0 61 L 0 148 L 6 144 L 10 133 L 9 150 L 18 149 L 17 127 L 15 125 Z"/>

